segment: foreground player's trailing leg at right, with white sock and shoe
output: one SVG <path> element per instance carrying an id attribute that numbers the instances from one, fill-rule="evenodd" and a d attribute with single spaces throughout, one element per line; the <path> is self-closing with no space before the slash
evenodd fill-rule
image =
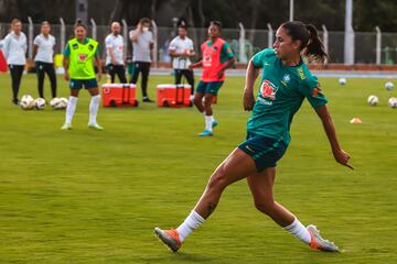
<path id="1" fill-rule="evenodd" d="M 314 226 L 305 228 L 296 216 L 273 199 L 272 187 L 275 177 L 276 167 L 265 168 L 260 173 L 255 172 L 247 177 L 249 188 L 254 196 L 255 207 L 311 248 L 337 252 L 337 246 L 322 239 Z"/>

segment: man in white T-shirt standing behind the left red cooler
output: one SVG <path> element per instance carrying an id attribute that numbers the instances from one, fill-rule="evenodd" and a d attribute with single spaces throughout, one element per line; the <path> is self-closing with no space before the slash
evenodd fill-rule
<path id="1" fill-rule="evenodd" d="M 111 84 L 115 82 L 116 74 L 121 84 L 127 84 L 124 62 L 124 37 L 120 35 L 120 23 L 112 22 L 110 30 L 111 33 L 105 38 L 106 67 L 109 72 Z"/>

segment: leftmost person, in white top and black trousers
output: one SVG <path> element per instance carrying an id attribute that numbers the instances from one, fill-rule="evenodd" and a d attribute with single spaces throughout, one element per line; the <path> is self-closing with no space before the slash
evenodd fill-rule
<path id="1" fill-rule="evenodd" d="M 11 73 L 12 102 L 19 105 L 18 92 L 23 69 L 26 63 L 26 36 L 22 32 L 22 22 L 19 19 L 11 21 L 11 32 L 4 37 L 3 53 Z"/>

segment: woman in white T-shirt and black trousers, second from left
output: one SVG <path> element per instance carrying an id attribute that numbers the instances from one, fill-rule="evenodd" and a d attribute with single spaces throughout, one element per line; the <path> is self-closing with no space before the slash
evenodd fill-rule
<path id="1" fill-rule="evenodd" d="M 56 97 L 56 75 L 54 68 L 55 37 L 50 34 L 51 26 L 47 21 L 41 24 L 41 34 L 33 41 L 33 57 L 37 74 L 37 90 L 44 98 L 44 75 L 47 74 L 51 81 L 52 98 Z"/>

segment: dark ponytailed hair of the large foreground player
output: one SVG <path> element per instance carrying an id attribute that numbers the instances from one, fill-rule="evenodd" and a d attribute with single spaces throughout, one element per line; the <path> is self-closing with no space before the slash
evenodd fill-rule
<path id="1" fill-rule="evenodd" d="M 304 50 L 303 54 L 305 56 L 313 57 L 322 63 L 328 57 L 314 25 L 304 24 L 300 21 L 289 21 L 283 23 L 281 28 L 288 31 L 288 35 L 291 36 L 292 41 L 301 41 L 300 50 Z"/>

